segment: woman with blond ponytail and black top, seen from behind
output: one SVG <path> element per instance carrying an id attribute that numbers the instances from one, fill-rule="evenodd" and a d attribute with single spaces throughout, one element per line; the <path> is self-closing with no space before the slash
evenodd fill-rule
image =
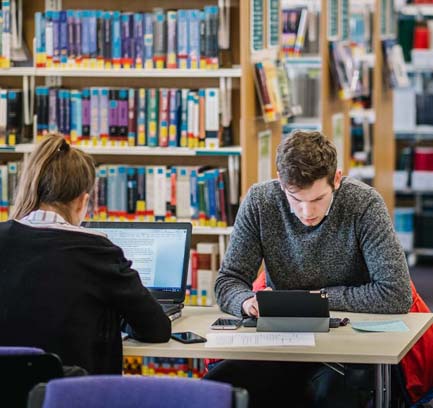
<path id="1" fill-rule="evenodd" d="M 92 158 L 57 135 L 30 155 L 11 220 L 0 223 L 0 345 L 36 346 L 89 373 L 121 373 L 121 318 L 166 342 L 171 323 L 122 250 L 79 225 Z"/>

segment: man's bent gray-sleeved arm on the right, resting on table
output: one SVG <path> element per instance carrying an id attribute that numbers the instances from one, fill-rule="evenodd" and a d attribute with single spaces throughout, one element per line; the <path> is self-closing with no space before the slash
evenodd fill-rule
<path id="1" fill-rule="evenodd" d="M 412 295 L 406 258 L 385 203 L 376 191 L 355 228 L 371 282 L 357 287 L 326 288 L 330 308 L 365 313 L 407 313 L 412 305 Z"/>

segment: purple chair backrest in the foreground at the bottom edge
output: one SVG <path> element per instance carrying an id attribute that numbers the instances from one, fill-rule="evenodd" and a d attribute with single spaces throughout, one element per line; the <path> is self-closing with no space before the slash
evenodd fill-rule
<path id="1" fill-rule="evenodd" d="M 41 390 L 45 388 L 43 402 Z M 42 403 L 41 403 L 42 402 Z M 42 405 L 43 404 L 43 405 Z M 216 381 L 102 375 L 52 380 L 29 395 L 27 408 L 247 408 L 248 393 Z"/>

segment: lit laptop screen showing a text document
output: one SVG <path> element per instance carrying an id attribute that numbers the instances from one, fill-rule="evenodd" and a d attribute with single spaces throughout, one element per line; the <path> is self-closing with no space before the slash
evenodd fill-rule
<path id="1" fill-rule="evenodd" d="M 126 259 L 151 290 L 176 292 L 182 287 L 185 229 L 96 228 L 123 249 Z"/>

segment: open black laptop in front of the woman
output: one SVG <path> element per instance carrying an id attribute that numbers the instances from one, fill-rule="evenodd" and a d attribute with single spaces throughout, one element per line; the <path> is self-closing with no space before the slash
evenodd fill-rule
<path id="1" fill-rule="evenodd" d="M 188 222 L 84 222 L 123 249 L 143 286 L 171 320 L 185 301 L 192 225 Z"/>

